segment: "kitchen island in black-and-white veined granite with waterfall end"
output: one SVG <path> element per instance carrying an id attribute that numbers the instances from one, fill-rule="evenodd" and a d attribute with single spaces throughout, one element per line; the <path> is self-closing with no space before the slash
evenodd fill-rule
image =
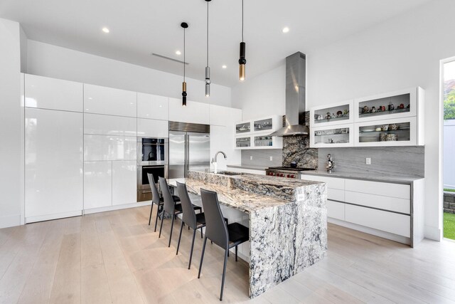
<path id="1" fill-rule="evenodd" d="M 250 227 L 250 298 L 326 256 L 326 184 L 257 174 L 188 172 L 188 192 L 218 193 L 222 206 L 246 214 Z M 244 223 L 242 223 L 244 224 Z"/>

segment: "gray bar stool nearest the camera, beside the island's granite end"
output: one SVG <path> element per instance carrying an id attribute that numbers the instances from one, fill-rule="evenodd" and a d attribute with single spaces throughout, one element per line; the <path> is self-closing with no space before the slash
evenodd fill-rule
<path id="1" fill-rule="evenodd" d="M 202 205 L 205 214 L 205 238 L 202 254 L 200 255 L 198 278 L 200 278 L 200 271 L 202 269 L 205 243 L 207 243 L 207 239 L 210 239 L 210 241 L 213 241 L 213 243 L 225 249 L 225 263 L 223 266 L 223 278 L 220 292 L 220 300 L 223 300 L 226 263 L 228 263 L 229 249 L 235 247 L 235 261 L 237 261 L 237 246 L 250 239 L 250 231 L 247 227 L 239 223 L 226 224 L 216 192 L 200 189 L 200 196 L 202 197 Z"/>

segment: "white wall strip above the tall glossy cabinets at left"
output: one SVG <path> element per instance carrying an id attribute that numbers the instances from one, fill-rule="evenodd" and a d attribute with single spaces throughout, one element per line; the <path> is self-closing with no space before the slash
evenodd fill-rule
<path id="1" fill-rule="evenodd" d="M 104 85 L 142 93 L 181 98 L 183 77 L 131 63 L 61 48 L 28 40 L 26 73 L 80 83 Z M 186 78 L 188 100 L 213 105 L 231 106 L 231 89 L 210 85 L 210 98 L 205 97 L 205 82 Z"/>

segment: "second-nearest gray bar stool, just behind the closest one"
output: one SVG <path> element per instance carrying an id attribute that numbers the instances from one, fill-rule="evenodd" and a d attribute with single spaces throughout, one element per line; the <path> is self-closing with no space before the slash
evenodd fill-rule
<path id="1" fill-rule="evenodd" d="M 196 237 L 196 230 L 200 229 L 200 237 L 203 237 L 202 229 L 205 227 L 205 215 L 203 212 L 196 214 L 191 204 L 190 196 L 188 195 L 188 189 L 186 184 L 177 182 L 178 196 L 181 198 L 181 205 L 183 209 L 182 223 L 180 226 L 180 234 L 178 235 L 178 245 L 176 254 L 178 254 L 178 248 L 180 248 L 180 240 L 182 237 L 183 223 L 188 225 L 189 228 L 193 229 L 193 241 L 191 241 L 190 261 L 188 262 L 188 269 L 191 268 L 191 258 L 193 258 L 194 238 Z"/>

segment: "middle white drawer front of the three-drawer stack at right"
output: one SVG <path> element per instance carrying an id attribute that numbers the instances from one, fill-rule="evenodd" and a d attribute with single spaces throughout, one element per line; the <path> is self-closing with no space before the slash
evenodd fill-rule
<path id="1" fill-rule="evenodd" d="M 346 203 L 411 214 L 410 199 L 398 199 L 396 197 L 350 191 L 345 192 L 345 198 Z"/>

